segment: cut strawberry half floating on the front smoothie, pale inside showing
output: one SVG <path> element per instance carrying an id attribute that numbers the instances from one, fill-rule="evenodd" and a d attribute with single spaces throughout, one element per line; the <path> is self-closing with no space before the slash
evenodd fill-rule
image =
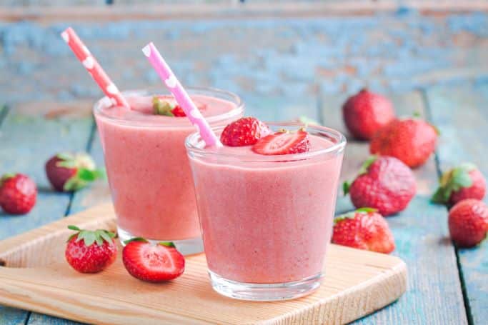
<path id="1" fill-rule="evenodd" d="M 301 154 L 310 151 L 309 134 L 304 129 L 296 132 L 281 130 L 259 139 L 252 151 L 265 155 Z"/>

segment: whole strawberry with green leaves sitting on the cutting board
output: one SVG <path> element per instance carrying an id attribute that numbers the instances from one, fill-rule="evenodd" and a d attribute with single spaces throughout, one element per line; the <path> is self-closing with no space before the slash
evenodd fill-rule
<path id="1" fill-rule="evenodd" d="M 89 231 L 68 226 L 76 231 L 69 236 L 64 256 L 69 265 L 81 273 L 96 273 L 114 263 L 117 256 L 115 234 L 103 229 Z"/>

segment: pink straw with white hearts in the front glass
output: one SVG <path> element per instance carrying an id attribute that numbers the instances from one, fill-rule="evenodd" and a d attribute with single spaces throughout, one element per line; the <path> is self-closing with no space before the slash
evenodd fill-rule
<path id="1" fill-rule="evenodd" d="M 147 56 L 147 59 L 149 59 L 149 62 L 151 62 L 151 65 L 154 70 L 156 70 L 157 74 L 159 74 L 161 81 L 163 81 L 169 91 L 171 91 L 174 99 L 176 99 L 179 106 L 181 106 L 181 109 L 183 109 L 186 116 L 191 121 L 191 124 L 195 126 L 196 131 L 199 131 L 201 139 L 205 141 L 206 146 L 221 146 L 222 144 L 220 143 L 219 138 L 214 134 L 214 131 L 211 131 L 204 116 L 201 115 L 199 109 L 196 108 L 196 105 L 190 99 L 190 96 L 188 96 L 183 86 L 181 86 L 178 79 L 176 79 L 173 71 L 171 71 L 168 64 L 166 64 L 166 61 L 164 61 L 161 54 L 159 54 L 156 46 L 151 42 L 144 46 L 142 52 Z"/>

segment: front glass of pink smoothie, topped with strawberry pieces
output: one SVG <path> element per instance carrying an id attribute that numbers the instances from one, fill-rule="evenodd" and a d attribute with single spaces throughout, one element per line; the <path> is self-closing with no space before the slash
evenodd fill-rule
<path id="1" fill-rule="evenodd" d="M 267 125 L 272 132 L 303 126 Z M 222 130 L 214 129 L 217 136 Z M 186 139 L 209 276 L 220 294 L 273 301 L 319 287 L 346 139 L 323 126 L 306 131 L 309 151 L 299 154 L 204 148 L 199 134 Z"/>

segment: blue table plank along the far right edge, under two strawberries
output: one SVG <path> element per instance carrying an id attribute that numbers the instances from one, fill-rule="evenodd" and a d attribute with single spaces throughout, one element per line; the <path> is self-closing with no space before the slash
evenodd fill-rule
<path id="1" fill-rule="evenodd" d="M 427 90 L 427 98 L 432 121 L 442 132 L 437 154 L 441 171 L 472 161 L 487 177 L 488 82 L 434 87 Z M 488 203 L 488 198 L 484 201 Z M 447 223 L 447 213 L 442 222 Z M 484 324 L 488 319 L 488 243 L 457 253 L 472 324 Z"/>

